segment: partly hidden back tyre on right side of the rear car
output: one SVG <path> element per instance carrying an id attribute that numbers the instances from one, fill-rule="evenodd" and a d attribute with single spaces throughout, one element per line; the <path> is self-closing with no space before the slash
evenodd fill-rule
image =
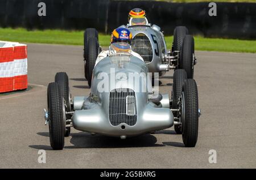
<path id="1" fill-rule="evenodd" d="M 177 26 L 174 29 L 174 50 L 180 50 L 183 38 L 188 34 L 188 29 L 185 26 Z"/>

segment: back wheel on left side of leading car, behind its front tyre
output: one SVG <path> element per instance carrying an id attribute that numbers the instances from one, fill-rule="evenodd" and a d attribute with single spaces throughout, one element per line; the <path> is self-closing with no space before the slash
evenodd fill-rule
<path id="1" fill-rule="evenodd" d="M 59 85 L 59 89 L 61 92 L 61 96 L 64 97 L 65 100 L 65 109 L 67 112 L 71 112 L 71 93 L 69 91 L 68 84 L 68 75 L 66 72 L 57 72 L 55 75 L 55 83 Z M 70 119 L 71 115 L 67 115 L 67 118 Z M 68 137 L 71 132 L 70 127 L 65 128 L 65 137 Z"/>

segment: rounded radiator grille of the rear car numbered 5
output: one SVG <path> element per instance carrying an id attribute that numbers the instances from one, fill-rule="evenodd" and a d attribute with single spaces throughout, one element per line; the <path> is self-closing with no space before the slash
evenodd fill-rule
<path id="1" fill-rule="evenodd" d="M 143 33 L 138 33 L 133 38 L 133 43 L 131 49 L 141 55 L 145 63 L 149 63 L 153 59 L 153 50 L 151 42 L 146 35 Z"/>

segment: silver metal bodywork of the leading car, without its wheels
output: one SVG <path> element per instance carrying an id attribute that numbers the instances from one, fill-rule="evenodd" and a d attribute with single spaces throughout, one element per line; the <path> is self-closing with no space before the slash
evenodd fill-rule
<path id="1" fill-rule="evenodd" d="M 158 105 L 150 101 L 147 71 L 143 61 L 130 55 L 102 59 L 93 70 L 90 96 L 74 98 L 73 127 L 122 139 L 171 127 L 168 95 Z"/>

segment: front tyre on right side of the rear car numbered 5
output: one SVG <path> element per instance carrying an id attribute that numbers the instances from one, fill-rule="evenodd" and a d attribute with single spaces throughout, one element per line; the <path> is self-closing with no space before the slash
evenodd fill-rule
<path id="1" fill-rule="evenodd" d="M 193 36 L 186 35 L 180 51 L 179 68 L 183 68 L 187 72 L 188 79 L 193 79 L 194 74 L 194 46 Z"/>

